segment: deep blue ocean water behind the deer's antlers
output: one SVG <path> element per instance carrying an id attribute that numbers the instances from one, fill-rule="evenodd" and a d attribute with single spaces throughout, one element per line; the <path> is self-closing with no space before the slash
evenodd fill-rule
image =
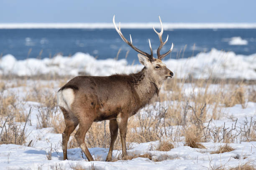
<path id="1" fill-rule="evenodd" d="M 123 35 L 139 49 L 150 53 L 148 38 L 154 50 L 159 46 L 159 38 L 153 29 L 122 29 Z M 173 52 L 168 58 L 187 58 L 212 48 L 233 51 L 236 54 L 256 53 L 256 29 L 174 29 L 164 30 L 169 40 L 162 48 L 166 52 L 174 43 Z M 0 54 L 11 54 L 17 60 L 27 58 L 47 58 L 57 54 L 72 56 L 84 52 L 97 59 L 125 58 L 130 50 L 128 63 L 138 63 L 137 52 L 131 49 L 114 29 L 0 29 Z"/>

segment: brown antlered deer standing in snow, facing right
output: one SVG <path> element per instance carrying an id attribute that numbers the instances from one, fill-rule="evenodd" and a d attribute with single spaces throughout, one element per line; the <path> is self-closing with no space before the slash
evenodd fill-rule
<path id="1" fill-rule="evenodd" d="M 122 157 L 127 155 L 125 137 L 127 133 L 128 118 L 135 115 L 138 110 L 147 105 L 151 98 L 159 95 L 159 90 L 164 80 L 173 77 L 173 72 L 162 62 L 162 59 L 172 52 L 172 47 L 164 54 L 160 54 L 161 48 L 166 44 L 169 35 L 163 42 L 163 26 L 159 16 L 161 31 L 154 32 L 159 36 L 160 45 L 157 49 L 157 58 L 153 57 L 153 50 L 150 40 L 149 47 L 151 54 L 139 50 L 133 45 L 130 35 L 128 41 L 115 24 L 113 24 L 124 42 L 138 52 L 138 60 L 144 65 L 137 73 L 115 74 L 110 76 L 77 76 L 57 92 L 58 106 L 60 107 L 65 120 L 65 130 L 62 133 L 63 159 L 67 160 L 67 143 L 70 134 L 79 128 L 74 137 L 80 148 L 86 155 L 88 161 L 93 161 L 84 140 L 87 131 L 93 122 L 109 120 L 110 148 L 106 161 L 111 161 L 115 140 L 120 132 L 122 144 Z"/>

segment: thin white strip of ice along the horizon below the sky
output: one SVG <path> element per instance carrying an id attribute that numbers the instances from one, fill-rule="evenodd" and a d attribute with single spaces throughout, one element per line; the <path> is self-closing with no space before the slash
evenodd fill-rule
<path id="1" fill-rule="evenodd" d="M 132 29 L 152 29 L 160 28 L 159 23 L 121 23 L 121 27 Z M 243 28 L 255 29 L 256 23 L 164 23 L 165 30 L 172 29 L 230 29 Z M 0 23 L 0 29 L 114 29 L 113 23 Z"/>

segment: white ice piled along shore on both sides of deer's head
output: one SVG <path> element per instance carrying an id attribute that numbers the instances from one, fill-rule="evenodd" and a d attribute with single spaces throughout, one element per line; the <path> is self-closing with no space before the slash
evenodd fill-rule
<path id="1" fill-rule="evenodd" d="M 195 57 L 165 60 L 167 67 L 178 78 L 238 78 L 256 80 L 256 54 L 236 55 L 234 52 L 224 52 L 212 49 Z M 29 58 L 16 60 L 13 55 L 5 55 L 0 59 L 0 75 L 14 74 L 31 76 L 38 74 L 79 75 L 112 75 L 116 73 L 129 74 L 138 72 L 142 65 L 128 65 L 127 61 L 106 59 L 96 60 L 93 56 L 77 52 L 72 57 L 57 55 L 54 58 L 42 60 Z"/>

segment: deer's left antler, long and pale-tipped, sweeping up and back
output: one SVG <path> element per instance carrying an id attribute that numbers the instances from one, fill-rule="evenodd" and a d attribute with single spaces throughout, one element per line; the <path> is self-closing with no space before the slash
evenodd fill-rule
<path id="1" fill-rule="evenodd" d="M 152 52 L 152 48 L 151 48 L 151 44 L 150 44 L 150 41 L 149 41 L 149 47 L 150 47 L 150 51 L 151 51 L 151 55 L 146 53 L 146 52 L 143 52 L 141 50 L 139 50 L 138 48 L 136 48 L 134 45 L 133 45 L 133 40 L 131 38 L 131 34 L 130 34 L 130 40 L 131 42 L 129 42 L 128 40 L 126 40 L 126 38 L 123 36 L 123 33 L 121 32 L 121 28 L 120 28 L 120 23 L 119 23 L 119 28 L 117 28 L 117 26 L 115 25 L 115 15 L 113 17 L 113 24 L 115 26 L 115 30 L 118 32 L 118 34 L 120 35 L 120 37 L 122 38 L 122 40 L 124 42 L 126 42 L 128 45 L 130 45 L 133 50 L 137 51 L 138 53 L 141 53 L 142 55 L 145 55 L 149 58 L 149 60 L 154 60 L 154 57 L 153 57 L 153 52 Z"/>

